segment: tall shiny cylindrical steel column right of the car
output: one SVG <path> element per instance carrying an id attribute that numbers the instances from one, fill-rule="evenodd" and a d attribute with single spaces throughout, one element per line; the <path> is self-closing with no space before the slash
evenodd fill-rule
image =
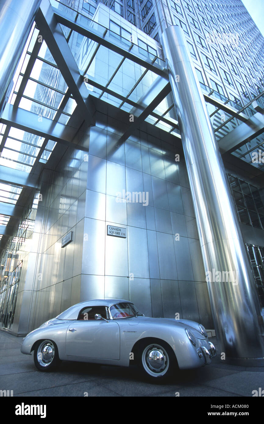
<path id="1" fill-rule="evenodd" d="M 162 34 L 215 330 L 218 352 L 264 365 L 264 323 L 225 168 L 183 30 Z M 248 358 L 246 360 L 246 358 Z M 249 359 L 251 358 L 251 360 Z"/>

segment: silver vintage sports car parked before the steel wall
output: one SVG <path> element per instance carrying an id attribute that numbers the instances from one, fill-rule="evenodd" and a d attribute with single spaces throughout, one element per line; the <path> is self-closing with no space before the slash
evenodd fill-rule
<path id="1" fill-rule="evenodd" d="M 130 301 L 97 299 L 78 303 L 29 333 L 21 352 L 40 371 L 61 360 L 129 366 L 136 363 L 153 380 L 177 369 L 197 368 L 216 355 L 206 329 L 195 321 L 149 318 Z"/>

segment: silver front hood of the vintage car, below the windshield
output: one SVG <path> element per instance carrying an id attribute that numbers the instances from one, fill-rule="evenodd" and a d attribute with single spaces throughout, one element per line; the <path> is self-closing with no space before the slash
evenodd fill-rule
<path id="1" fill-rule="evenodd" d="M 192 333 L 195 335 L 197 339 L 205 340 L 206 337 L 198 330 L 199 324 L 195 321 L 189 321 L 189 320 L 175 320 L 174 318 L 151 318 L 151 317 L 143 317 L 138 316 L 134 318 L 120 318 L 119 321 L 122 320 L 129 320 L 129 325 L 137 325 L 137 324 L 143 324 L 146 323 L 148 325 L 157 325 L 157 324 L 163 324 L 163 325 L 169 325 L 169 326 L 180 326 L 183 329 L 190 329 Z"/>

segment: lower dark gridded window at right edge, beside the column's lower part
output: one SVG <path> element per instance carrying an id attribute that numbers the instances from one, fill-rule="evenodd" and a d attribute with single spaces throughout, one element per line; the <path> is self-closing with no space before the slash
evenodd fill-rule
<path id="1" fill-rule="evenodd" d="M 261 308 L 264 307 L 264 247 L 246 244 Z"/>

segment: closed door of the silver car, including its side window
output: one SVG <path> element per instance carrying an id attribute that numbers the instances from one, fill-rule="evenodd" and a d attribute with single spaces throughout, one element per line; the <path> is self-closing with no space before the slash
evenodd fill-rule
<path id="1" fill-rule="evenodd" d="M 96 320 L 95 314 L 104 319 Z M 68 326 L 66 354 L 98 359 L 120 358 L 120 330 L 114 320 L 108 319 L 105 306 L 82 308 L 78 319 Z"/>

